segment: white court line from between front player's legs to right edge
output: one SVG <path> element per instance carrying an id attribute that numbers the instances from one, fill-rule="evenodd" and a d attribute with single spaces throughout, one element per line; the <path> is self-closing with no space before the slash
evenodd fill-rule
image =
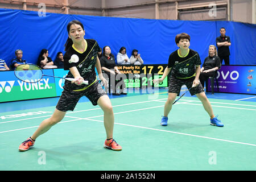
<path id="1" fill-rule="evenodd" d="M 70 118 L 77 118 L 77 117 L 70 117 Z M 89 121 L 96 121 L 96 122 L 104 122 L 104 121 L 100 121 L 100 120 L 96 120 L 96 119 L 88 119 L 88 118 L 79 118 L 79 119 L 84 119 L 84 120 L 89 120 Z M 137 126 L 137 125 L 127 125 L 127 124 L 123 124 L 123 123 L 114 123 L 114 124 L 115 125 L 138 127 L 138 128 L 147 129 L 147 130 L 163 131 L 163 132 L 174 133 L 174 134 L 179 134 L 179 135 L 188 135 L 188 136 L 191 136 L 191 137 L 199 137 L 199 138 L 206 138 L 206 139 L 212 139 L 212 140 L 220 140 L 222 142 L 230 142 L 230 143 L 245 144 L 245 145 L 249 145 L 249 146 L 256 146 L 256 144 L 251 144 L 251 143 L 236 142 L 236 141 L 232 141 L 232 140 L 225 140 L 225 139 L 212 138 L 212 137 L 204 137 L 204 136 L 200 136 L 200 135 L 193 135 L 193 134 L 187 134 L 187 133 L 179 133 L 179 132 L 175 132 L 175 131 L 152 129 L 151 127 L 143 127 L 143 126 Z"/>

